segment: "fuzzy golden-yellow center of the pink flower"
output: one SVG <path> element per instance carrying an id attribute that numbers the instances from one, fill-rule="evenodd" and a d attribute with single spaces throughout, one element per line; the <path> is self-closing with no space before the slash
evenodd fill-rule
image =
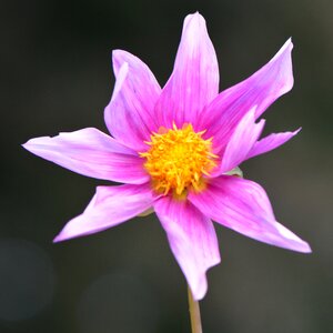
<path id="1" fill-rule="evenodd" d="M 176 198 L 186 195 L 188 190 L 201 191 L 203 175 L 209 175 L 216 165 L 218 155 L 212 153 L 212 138 L 204 140 L 191 124 L 170 130 L 160 128 L 147 142 L 150 149 L 140 153 L 145 158 L 144 168 L 151 175 L 153 189 L 167 195 L 170 191 Z"/>

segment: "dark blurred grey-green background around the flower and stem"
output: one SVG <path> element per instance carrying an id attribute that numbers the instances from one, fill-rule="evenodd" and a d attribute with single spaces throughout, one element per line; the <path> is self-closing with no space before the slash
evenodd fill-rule
<path id="1" fill-rule="evenodd" d="M 52 244 L 98 184 L 20 144 L 85 127 L 105 130 L 111 50 L 147 62 L 163 85 L 182 22 L 199 10 L 221 90 L 293 38 L 295 85 L 266 132 L 302 132 L 242 165 L 279 221 L 313 253 L 265 245 L 215 224 L 222 263 L 201 302 L 204 332 L 332 332 L 333 2 L 329 0 L 1 1 L 0 332 L 190 332 L 186 285 L 154 215 Z"/>

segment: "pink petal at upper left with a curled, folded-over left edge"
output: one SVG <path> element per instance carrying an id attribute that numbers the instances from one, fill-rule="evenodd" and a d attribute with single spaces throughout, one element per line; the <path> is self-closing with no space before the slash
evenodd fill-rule
<path id="1" fill-rule="evenodd" d="M 110 133 L 137 151 L 147 150 L 143 141 L 157 131 L 154 105 L 161 88 L 153 73 L 129 52 L 113 51 L 114 91 L 104 111 Z"/>

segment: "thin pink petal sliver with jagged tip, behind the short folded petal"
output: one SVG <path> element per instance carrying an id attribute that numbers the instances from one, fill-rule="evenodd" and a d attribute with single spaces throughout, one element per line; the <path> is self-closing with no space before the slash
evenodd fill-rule
<path id="1" fill-rule="evenodd" d="M 301 129 L 294 132 L 272 133 L 261 139 L 260 141 L 255 142 L 253 148 L 250 150 L 246 159 L 251 159 L 276 149 L 278 147 L 284 144 L 286 141 L 295 137 L 300 131 Z"/>

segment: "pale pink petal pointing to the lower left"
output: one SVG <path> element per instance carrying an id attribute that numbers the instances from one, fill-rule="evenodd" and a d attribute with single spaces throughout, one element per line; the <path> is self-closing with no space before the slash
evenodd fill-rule
<path id="1" fill-rule="evenodd" d="M 97 233 L 144 212 L 153 203 L 148 184 L 98 186 L 84 212 L 69 221 L 53 242 Z"/>

